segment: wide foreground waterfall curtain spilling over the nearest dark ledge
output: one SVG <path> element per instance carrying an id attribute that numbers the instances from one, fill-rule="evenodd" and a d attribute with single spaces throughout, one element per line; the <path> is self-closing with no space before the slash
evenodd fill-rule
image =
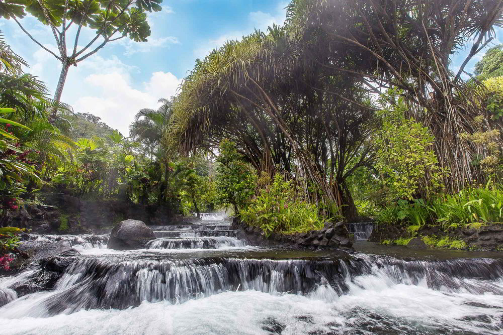
<path id="1" fill-rule="evenodd" d="M 54 291 L 39 294 L 36 304 L 18 299 L 0 308 L 0 315 L 125 309 L 142 301 L 181 303 L 236 290 L 317 297 L 321 287 L 323 299 L 334 300 L 375 285 L 425 285 L 444 294 L 503 295 L 502 276 L 503 260 L 494 259 L 405 261 L 362 254 L 331 260 L 85 258 L 66 270 Z"/>

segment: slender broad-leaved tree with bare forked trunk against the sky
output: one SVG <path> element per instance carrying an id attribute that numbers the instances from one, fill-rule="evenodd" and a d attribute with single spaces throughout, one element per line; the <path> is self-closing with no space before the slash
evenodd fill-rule
<path id="1" fill-rule="evenodd" d="M 77 66 L 77 63 L 98 52 L 108 42 L 126 36 L 135 42 L 146 42 L 150 36 L 146 12 L 160 11 L 161 2 L 162 0 L 22 0 L 0 3 L 0 17 L 13 19 L 33 42 L 61 62 L 61 73 L 54 93 L 54 100 L 59 101 L 70 65 Z M 26 13 L 50 27 L 58 51 L 53 52 L 45 47 L 22 25 L 20 19 Z M 76 27 L 76 31 L 73 38 L 70 38 L 69 29 L 72 25 Z M 82 27 L 96 30 L 96 36 L 85 46 L 79 47 Z M 72 43 L 67 46 L 67 41 Z"/>

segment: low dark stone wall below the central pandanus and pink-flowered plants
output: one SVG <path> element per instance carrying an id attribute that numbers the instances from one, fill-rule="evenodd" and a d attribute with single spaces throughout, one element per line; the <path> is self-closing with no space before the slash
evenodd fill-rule
<path id="1" fill-rule="evenodd" d="M 262 229 L 251 227 L 237 217 L 232 221 L 232 228 L 237 230 L 237 238 L 245 239 L 249 245 L 289 249 L 352 249 L 353 241 L 344 222 L 327 222 L 319 231 L 309 233 L 278 234 L 265 237 Z"/>

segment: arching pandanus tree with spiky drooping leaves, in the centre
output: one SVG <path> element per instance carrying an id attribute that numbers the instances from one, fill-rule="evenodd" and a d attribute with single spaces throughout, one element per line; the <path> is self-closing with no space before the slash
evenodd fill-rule
<path id="1" fill-rule="evenodd" d="M 364 95 L 274 26 L 227 42 L 196 64 L 176 99 L 170 137 L 186 152 L 230 138 L 259 171 L 272 176 L 279 166 L 305 178 L 322 195 L 308 192 L 315 200 L 344 206 L 351 217 L 344 180 L 372 120 Z M 368 159 L 361 157 L 355 169 Z"/>

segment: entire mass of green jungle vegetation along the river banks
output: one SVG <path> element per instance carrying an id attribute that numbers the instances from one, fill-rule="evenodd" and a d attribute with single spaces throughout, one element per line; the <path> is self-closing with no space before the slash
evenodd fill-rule
<path id="1" fill-rule="evenodd" d="M 56 21 L 30 11 L 54 29 L 89 19 L 112 41 L 112 2 L 85 3 L 97 17 L 73 17 L 71 1 Z M 134 2 L 142 18 L 158 3 Z M 0 13 L 16 19 L 18 7 Z M 411 231 L 501 222 L 501 48 L 475 74 L 466 67 L 502 13 L 500 0 L 292 0 L 284 26 L 197 59 L 179 93 L 137 111 L 126 135 L 49 98 L 4 43 L 2 213 L 64 189 L 185 214 L 229 207 L 265 234 L 362 217 Z"/>

